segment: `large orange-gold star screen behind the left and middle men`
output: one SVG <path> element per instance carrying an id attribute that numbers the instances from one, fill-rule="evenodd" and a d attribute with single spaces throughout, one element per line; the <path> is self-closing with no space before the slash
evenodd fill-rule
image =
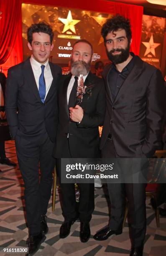
<path id="1" fill-rule="evenodd" d="M 78 39 L 88 40 L 94 49 L 95 61 L 101 59 L 107 62 L 101 27 L 112 14 L 96 13 L 86 10 L 76 10 L 61 7 L 41 5 L 22 5 L 23 23 L 23 59 L 31 55 L 27 47 L 27 28 L 32 23 L 43 21 L 51 25 L 54 31 L 54 48 L 50 60 L 57 64 L 68 64 L 72 46 Z"/>

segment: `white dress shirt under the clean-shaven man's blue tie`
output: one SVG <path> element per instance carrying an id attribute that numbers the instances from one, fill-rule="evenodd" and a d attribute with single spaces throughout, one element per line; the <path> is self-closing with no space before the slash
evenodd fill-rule
<path id="1" fill-rule="evenodd" d="M 39 88 L 39 77 L 41 75 L 41 65 L 42 64 L 40 64 L 38 61 L 36 61 L 33 58 L 33 56 L 31 56 L 30 61 L 31 61 L 31 66 L 32 66 L 34 77 L 35 77 L 35 81 L 36 81 L 37 87 Z M 43 65 L 45 66 L 44 78 L 45 78 L 45 82 L 46 82 L 46 96 L 47 96 L 47 93 L 49 92 L 49 89 L 51 87 L 52 80 L 53 80 L 50 65 L 49 65 L 49 59 Z M 45 96 L 45 99 L 46 99 L 46 96 Z"/>

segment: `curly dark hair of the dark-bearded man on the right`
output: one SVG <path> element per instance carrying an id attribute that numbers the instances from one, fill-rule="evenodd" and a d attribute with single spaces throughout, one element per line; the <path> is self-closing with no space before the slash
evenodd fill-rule
<path id="1" fill-rule="evenodd" d="M 130 42 L 132 36 L 130 20 L 119 14 L 113 16 L 110 19 L 107 19 L 106 23 L 103 24 L 101 34 L 104 38 L 104 41 L 108 33 L 111 31 L 117 31 L 119 28 L 125 30 L 128 42 Z"/>

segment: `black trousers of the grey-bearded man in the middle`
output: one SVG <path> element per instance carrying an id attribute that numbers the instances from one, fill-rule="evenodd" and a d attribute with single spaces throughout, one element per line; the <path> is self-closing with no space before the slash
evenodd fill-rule
<path id="1" fill-rule="evenodd" d="M 72 158 L 67 138 L 61 158 Z M 56 161 L 56 170 L 60 181 L 61 207 L 64 218 L 68 220 L 79 218 L 80 221 L 89 222 L 94 211 L 94 183 L 79 184 L 80 196 L 79 205 L 77 206 L 74 184 L 61 182 L 61 159 Z"/>

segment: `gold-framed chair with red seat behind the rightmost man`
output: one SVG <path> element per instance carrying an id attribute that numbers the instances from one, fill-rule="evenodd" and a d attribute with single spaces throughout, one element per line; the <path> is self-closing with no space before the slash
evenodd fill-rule
<path id="1" fill-rule="evenodd" d="M 160 161 L 159 159 L 162 158 Z M 158 180 L 161 177 L 161 170 L 166 162 L 166 150 L 156 150 L 152 161 L 149 161 L 149 171 L 151 172 L 151 179 L 146 187 L 146 196 L 154 199 L 155 204 L 157 205 L 157 188 L 158 188 Z M 128 200 L 126 199 L 126 207 L 125 207 L 125 217 L 123 220 L 123 228 L 125 226 L 126 218 L 128 215 Z M 159 219 L 159 207 L 155 209 L 156 215 L 156 225 L 157 228 L 160 227 L 160 219 Z"/>

